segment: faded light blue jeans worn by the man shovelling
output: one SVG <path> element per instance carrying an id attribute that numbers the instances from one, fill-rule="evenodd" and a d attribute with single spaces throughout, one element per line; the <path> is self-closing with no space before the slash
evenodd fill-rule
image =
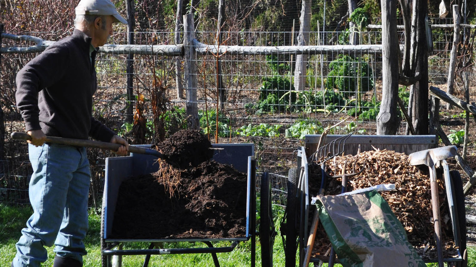
<path id="1" fill-rule="evenodd" d="M 33 215 L 21 230 L 13 266 L 40 267 L 47 260 L 44 246 L 53 244 L 56 255 L 82 262 L 91 177 L 86 149 L 29 144 L 28 151 L 33 167 L 29 187 Z"/>

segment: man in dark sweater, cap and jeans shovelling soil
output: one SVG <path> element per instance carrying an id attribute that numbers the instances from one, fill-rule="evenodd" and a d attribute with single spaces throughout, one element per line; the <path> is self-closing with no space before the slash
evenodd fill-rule
<path id="1" fill-rule="evenodd" d="M 17 106 L 31 136 L 29 194 L 33 215 L 16 244 L 12 267 L 40 267 L 55 245 L 53 267 L 81 267 L 88 230 L 89 162 L 84 147 L 44 143 L 46 135 L 128 143 L 92 118 L 94 59 L 112 33 L 127 24 L 109 0 L 81 0 L 73 34 L 50 46 L 17 74 Z"/>

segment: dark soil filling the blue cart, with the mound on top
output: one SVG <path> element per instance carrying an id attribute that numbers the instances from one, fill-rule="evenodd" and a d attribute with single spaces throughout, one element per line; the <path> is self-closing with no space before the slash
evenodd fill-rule
<path id="1" fill-rule="evenodd" d="M 186 134 L 188 132 L 188 134 Z M 181 163 L 182 155 L 200 156 L 195 131 L 184 131 L 162 145 Z M 190 132 L 192 132 L 190 134 Z M 199 134 L 199 133 L 198 133 Z M 208 142 L 208 140 L 207 140 Z M 160 145 L 159 145 L 160 146 Z M 190 148 L 190 151 L 183 148 Z M 204 147 L 211 147 L 210 143 Z M 207 152 L 208 153 L 208 149 Z M 188 169 L 160 161 L 160 170 L 123 181 L 114 213 L 111 238 L 186 239 L 238 238 L 246 236 L 247 177 L 229 165 L 202 160 Z M 188 164 L 196 163 L 190 160 Z"/>

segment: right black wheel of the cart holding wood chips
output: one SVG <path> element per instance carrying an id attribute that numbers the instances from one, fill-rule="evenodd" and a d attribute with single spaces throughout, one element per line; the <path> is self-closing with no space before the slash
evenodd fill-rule
<path id="1" fill-rule="evenodd" d="M 456 224 L 456 233 L 460 240 L 459 251 L 464 256 L 466 253 L 466 208 L 465 208 L 465 194 L 463 191 L 463 181 L 461 181 L 461 175 L 458 171 L 450 172 L 451 181 L 453 182 L 453 201 L 456 206 L 456 218 L 458 222 Z M 458 244 L 456 244 L 458 246 Z M 455 267 L 466 267 L 468 264 L 467 257 L 463 257 L 462 262 L 456 262 Z"/>

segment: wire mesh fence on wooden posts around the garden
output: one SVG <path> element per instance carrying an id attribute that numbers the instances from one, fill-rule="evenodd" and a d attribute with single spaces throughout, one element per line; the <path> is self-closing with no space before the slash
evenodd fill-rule
<path id="1" fill-rule="evenodd" d="M 438 22 L 438 21 L 434 21 Z M 439 23 L 439 22 L 438 22 Z M 449 23 L 445 21 L 445 23 Z M 25 34 L 25 33 L 22 33 Z M 289 46 L 293 32 L 222 32 L 219 46 Z M 401 35 L 402 32 L 399 32 Z M 46 40 L 59 40 L 65 32 L 32 32 Z M 359 32 L 360 44 L 381 44 L 377 30 Z M 215 44 L 215 31 L 197 32 L 199 42 Z M 430 83 L 444 85 L 447 77 L 452 30 L 433 31 L 435 50 L 429 57 Z M 138 45 L 174 44 L 173 32 L 136 32 Z M 403 39 L 401 39 L 403 42 Z M 112 44 L 127 44 L 127 33 L 115 33 Z M 310 32 L 308 45 L 344 45 L 349 32 Z M 2 47 L 28 47 L 26 41 L 4 39 Z M 218 46 L 217 45 L 217 46 Z M 15 106 L 15 76 L 31 54 L 3 54 L 1 60 L 1 101 L 6 135 L 24 131 Z M 276 191 L 286 192 L 285 175 L 295 165 L 294 151 L 303 145 L 305 134 L 318 134 L 325 127 L 339 124 L 333 134 L 355 131 L 376 133 L 382 86 L 382 58 L 377 52 L 332 50 L 307 54 L 304 90 L 294 88 L 297 54 L 283 55 L 198 55 L 197 105 L 199 123 L 210 140 L 219 143 L 255 143 L 260 170 L 276 173 Z M 176 77 L 176 64 L 180 74 Z M 113 131 L 136 144 L 159 141 L 157 121 L 162 119 L 165 137 L 186 127 L 186 99 L 179 97 L 184 84 L 184 58 L 156 55 L 134 55 L 132 92 L 128 95 L 128 55 L 99 53 L 96 70 L 98 90 L 94 95 L 93 116 Z M 221 75 L 217 75 L 217 64 Z M 221 79 L 222 85 L 217 81 Z M 179 82 L 178 82 L 179 81 Z M 220 88 L 218 88 L 220 87 Z M 400 88 L 405 99 L 408 89 Z M 184 94 L 184 93 L 183 93 Z M 152 100 L 165 99 L 165 108 L 157 115 Z M 185 94 L 184 94 L 185 95 Z M 131 112 L 132 111 L 132 112 Z M 142 118 L 142 120 L 141 120 Z M 217 123 L 218 122 L 218 123 Z M 218 129 L 218 130 L 217 130 Z M 399 134 L 405 133 L 401 123 Z M 217 136 L 215 136 L 217 135 Z M 5 139 L 1 161 L 0 202 L 28 203 L 28 181 L 31 167 L 25 143 Z M 91 205 L 98 206 L 104 183 L 104 160 L 109 152 L 89 150 L 92 172 Z M 273 180 L 274 181 L 274 180 Z M 279 194 L 278 194 L 279 195 Z M 277 202 L 280 202 L 279 197 Z"/>

